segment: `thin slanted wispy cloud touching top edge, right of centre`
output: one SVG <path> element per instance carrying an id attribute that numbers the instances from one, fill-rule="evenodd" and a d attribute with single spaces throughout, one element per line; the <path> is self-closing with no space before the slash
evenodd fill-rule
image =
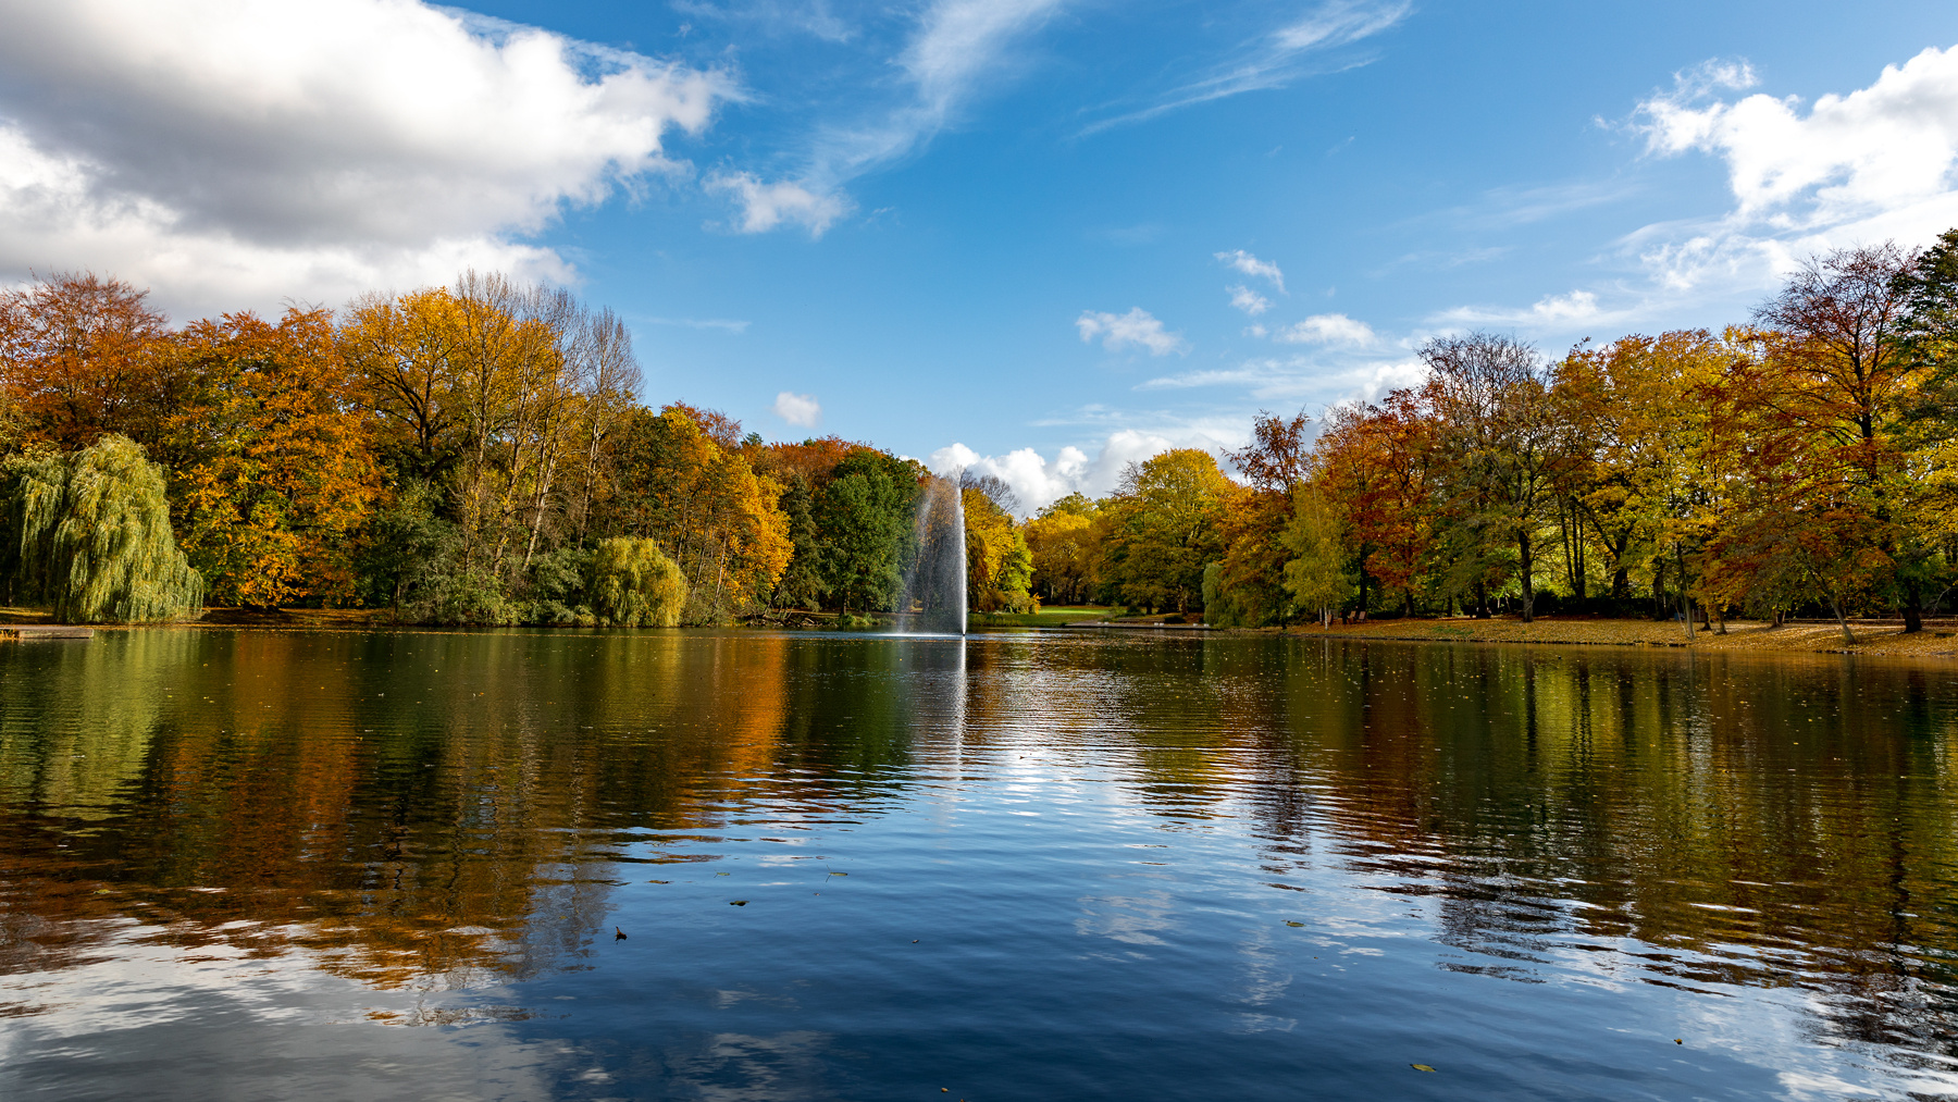
<path id="1" fill-rule="evenodd" d="M 1412 12 L 1412 0 L 1328 0 L 1302 18 L 1243 43 L 1230 61 L 1169 88 L 1153 104 L 1089 123 L 1081 133 L 1138 123 L 1226 96 L 1282 88 L 1308 72 L 1365 65 L 1371 59 L 1345 57 L 1331 65 L 1316 61 L 1394 27 Z"/>

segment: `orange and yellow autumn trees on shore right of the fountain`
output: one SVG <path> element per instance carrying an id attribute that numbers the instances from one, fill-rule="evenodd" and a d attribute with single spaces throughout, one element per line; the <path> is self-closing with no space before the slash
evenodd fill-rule
<path id="1" fill-rule="evenodd" d="M 1420 348 L 1425 382 L 1130 468 L 1026 525 L 1048 601 L 1335 615 L 1899 615 L 1958 581 L 1958 231 L 1813 256 L 1745 325 Z"/>

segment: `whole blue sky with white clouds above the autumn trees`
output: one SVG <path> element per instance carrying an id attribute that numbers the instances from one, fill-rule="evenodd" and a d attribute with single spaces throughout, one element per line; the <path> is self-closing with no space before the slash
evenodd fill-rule
<path id="1" fill-rule="evenodd" d="M 570 280 L 648 401 L 1032 503 L 1408 382 L 1435 333 L 1717 327 L 1807 251 L 1958 225 L 1948 2 L 0 0 L 0 276 L 112 270 L 176 317 Z"/>

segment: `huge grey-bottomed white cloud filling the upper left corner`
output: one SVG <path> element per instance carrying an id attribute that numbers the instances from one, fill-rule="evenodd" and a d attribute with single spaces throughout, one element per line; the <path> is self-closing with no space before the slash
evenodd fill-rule
<path id="1" fill-rule="evenodd" d="M 0 0 L 0 270 L 206 309 L 564 278 L 525 243 L 685 166 L 717 70 L 411 0 Z"/>

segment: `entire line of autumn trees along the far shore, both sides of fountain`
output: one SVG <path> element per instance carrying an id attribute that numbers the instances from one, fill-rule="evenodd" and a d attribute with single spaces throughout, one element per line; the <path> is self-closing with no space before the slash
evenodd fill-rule
<path id="1" fill-rule="evenodd" d="M 965 476 L 975 611 L 1214 624 L 1545 611 L 1899 615 L 1958 581 L 1958 231 L 1797 268 L 1747 323 L 1420 348 L 1425 380 L 1224 456 L 1132 464 L 1020 523 Z M 625 325 L 466 274 L 341 311 L 172 329 L 129 284 L 0 294 L 0 599 L 478 624 L 903 611 L 934 536 L 914 460 L 764 442 L 638 399 Z M 1226 474 L 1226 466 L 1234 472 Z"/>

